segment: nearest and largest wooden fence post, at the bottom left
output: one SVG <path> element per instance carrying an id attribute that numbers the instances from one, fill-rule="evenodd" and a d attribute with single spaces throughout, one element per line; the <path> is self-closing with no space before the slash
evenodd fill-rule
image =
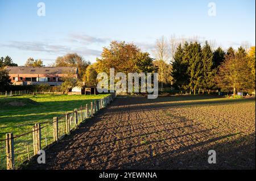
<path id="1" fill-rule="evenodd" d="M 13 133 L 6 134 L 6 163 L 7 170 L 14 169 L 14 141 Z"/>

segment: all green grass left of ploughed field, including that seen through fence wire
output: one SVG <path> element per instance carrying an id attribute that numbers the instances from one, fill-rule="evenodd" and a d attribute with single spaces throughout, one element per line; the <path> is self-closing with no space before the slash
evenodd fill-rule
<path id="1" fill-rule="evenodd" d="M 8 132 L 14 136 L 31 132 L 35 123 L 41 124 L 42 149 L 53 142 L 52 123 L 46 123 L 53 117 L 61 117 L 65 112 L 72 112 L 80 106 L 85 107 L 105 95 L 23 95 L 0 98 L 0 140 Z M 89 106 L 90 107 L 90 106 Z M 73 113 L 72 113 L 73 114 Z M 71 116 L 72 116 L 71 114 Z M 82 113 L 85 114 L 85 110 Z M 79 124 L 83 121 L 81 111 L 78 112 Z M 71 121 L 71 129 L 76 128 Z M 59 136 L 65 134 L 65 117 L 59 119 Z M 14 139 L 15 168 L 34 155 L 32 133 Z M 0 142 L 0 170 L 6 169 L 5 141 Z"/>

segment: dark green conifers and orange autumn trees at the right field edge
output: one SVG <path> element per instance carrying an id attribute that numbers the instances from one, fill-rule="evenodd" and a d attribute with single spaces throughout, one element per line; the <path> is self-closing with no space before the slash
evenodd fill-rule
<path id="1" fill-rule="evenodd" d="M 172 62 L 172 77 L 176 89 L 200 94 L 210 90 L 255 90 L 255 47 L 249 52 L 242 47 L 226 52 L 212 50 L 206 41 L 179 44 Z"/>

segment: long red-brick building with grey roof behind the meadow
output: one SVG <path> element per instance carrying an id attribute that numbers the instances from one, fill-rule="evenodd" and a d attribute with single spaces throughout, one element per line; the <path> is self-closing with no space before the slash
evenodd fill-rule
<path id="1" fill-rule="evenodd" d="M 48 84 L 50 86 L 60 86 L 63 83 L 63 77 L 72 74 L 77 78 L 78 69 L 75 67 L 42 67 L 34 68 L 27 66 L 7 66 L 10 79 L 13 85 L 40 85 Z"/>

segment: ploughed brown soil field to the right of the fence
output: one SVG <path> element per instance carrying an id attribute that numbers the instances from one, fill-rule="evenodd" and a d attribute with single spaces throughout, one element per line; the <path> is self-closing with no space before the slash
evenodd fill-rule
<path id="1" fill-rule="evenodd" d="M 115 99 L 26 169 L 255 169 L 255 99 L 181 98 Z"/>

